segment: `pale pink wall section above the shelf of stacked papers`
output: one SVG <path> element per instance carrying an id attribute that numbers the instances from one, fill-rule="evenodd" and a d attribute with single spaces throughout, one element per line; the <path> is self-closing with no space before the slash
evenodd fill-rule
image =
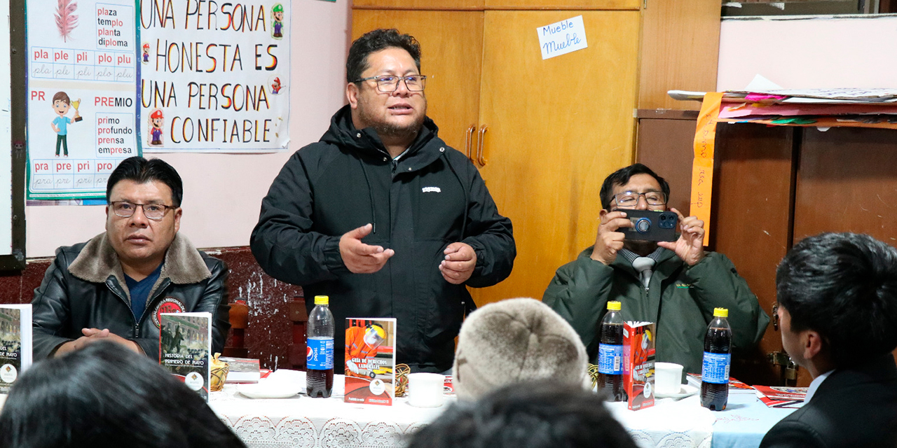
<path id="1" fill-rule="evenodd" d="M 897 87 L 897 16 L 724 20 L 718 90 L 760 73 L 788 89 Z"/>

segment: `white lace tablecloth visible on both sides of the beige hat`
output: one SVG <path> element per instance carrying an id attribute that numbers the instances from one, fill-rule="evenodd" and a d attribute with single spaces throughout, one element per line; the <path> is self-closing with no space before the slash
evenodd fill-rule
<path id="1" fill-rule="evenodd" d="M 304 385 L 304 375 L 299 379 Z M 431 409 L 414 408 L 404 398 L 391 407 L 349 404 L 343 402 L 343 375 L 334 375 L 334 380 L 329 399 L 301 394 L 252 400 L 227 384 L 222 392 L 212 392 L 209 405 L 249 448 L 402 448 L 407 435 L 439 418 L 455 400 L 447 398 L 440 408 Z M 697 396 L 661 399 L 653 408 L 637 411 L 626 409 L 624 402 L 607 406 L 640 448 L 710 448 L 715 418 L 701 408 Z"/>

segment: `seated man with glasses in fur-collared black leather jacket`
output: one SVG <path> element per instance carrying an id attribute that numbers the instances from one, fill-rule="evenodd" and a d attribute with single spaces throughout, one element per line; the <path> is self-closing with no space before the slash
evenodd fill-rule
<path id="1" fill-rule="evenodd" d="M 213 351 L 222 351 L 228 271 L 178 233 L 183 192 L 161 159 L 132 157 L 112 171 L 106 231 L 58 248 L 34 290 L 35 361 L 98 340 L 158 359 L 161 313 L 212 313 Z"/>

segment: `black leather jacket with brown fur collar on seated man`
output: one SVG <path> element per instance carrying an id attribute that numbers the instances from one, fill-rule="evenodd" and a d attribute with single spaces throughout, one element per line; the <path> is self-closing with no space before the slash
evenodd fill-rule
<path id="1" fill-rule="evenodd" d="M 86 243 L 57 249 L 56 260 L 31 301 L 34 360 L 47 358 L 82 328 L 108 328 L 134 340 L 146 356 L 159 359 L 159 313 L 212 313 L 212 349 L 221 352 L 231 328 L 227 266 L 197 251 L 177 234 L 142 316 L 131 310 L 125 274 L 105 233 Z"/>

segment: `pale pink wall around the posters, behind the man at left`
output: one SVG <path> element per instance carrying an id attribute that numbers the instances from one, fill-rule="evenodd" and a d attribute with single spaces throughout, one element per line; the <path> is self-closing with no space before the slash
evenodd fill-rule
<path id="1" fill-rule="evenodd" d="M 247 246 L 262 198 L 293 151 L 317 142 L 344 104 L 351 2 L 292 1 L 290 149 L 262 154 L 152 154 L 184 180 L 180 231 L 197 247 Z M 300 87 L 308 85 L 307 88 Z M 52 256 L 103 231 L 104 207 L 25 208 L 26 254 Z"/>

